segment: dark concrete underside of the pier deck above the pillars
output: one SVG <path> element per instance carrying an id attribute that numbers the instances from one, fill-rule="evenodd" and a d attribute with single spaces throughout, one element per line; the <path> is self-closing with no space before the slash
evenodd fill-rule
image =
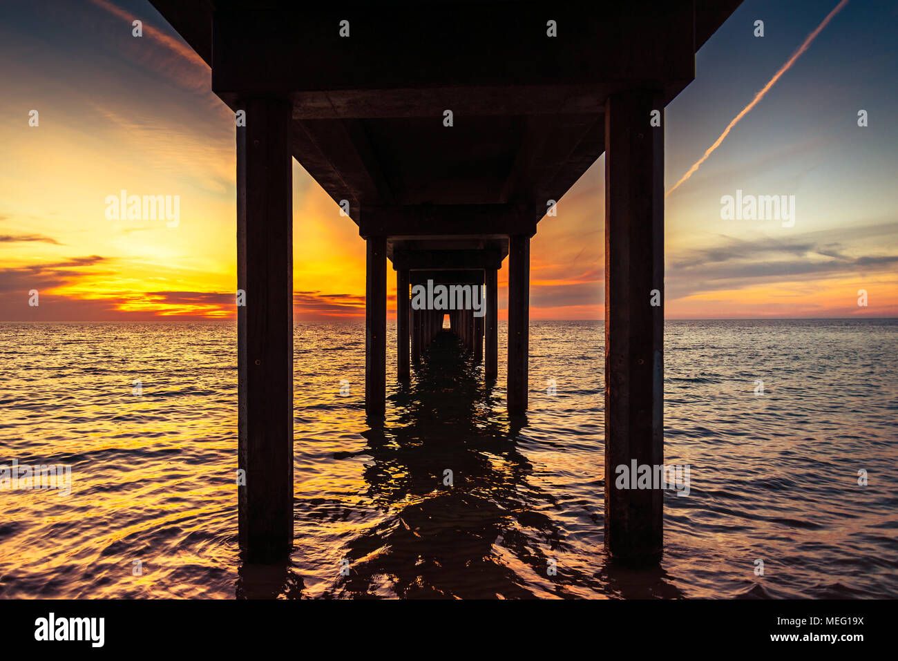
<path id="1" fill-rule="evenodd" d="M 363 207 L 519 204 L 539 220 L 603 154 L 605 98 L 670 101 L 740 1 L 151 0 L 233 109 L 292 101 L 296 160 L 357 223 Z"/>

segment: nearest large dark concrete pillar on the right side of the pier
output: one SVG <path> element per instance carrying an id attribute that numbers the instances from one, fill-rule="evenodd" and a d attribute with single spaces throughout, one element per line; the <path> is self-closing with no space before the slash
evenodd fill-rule
<path id="1" fill-rule="evenodd" d="M 664 291 L 665 138 L 652 110 L 664 102 L 645 91 L 605 104 L 605 546 L 643 561 L 661 556 L 664 492 L 615 476 L 664 463 L 664 308 L 650 302 Z"/>

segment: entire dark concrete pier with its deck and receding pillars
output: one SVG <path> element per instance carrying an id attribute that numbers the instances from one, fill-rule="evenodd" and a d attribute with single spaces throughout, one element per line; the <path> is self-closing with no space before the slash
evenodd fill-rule
<path id="1" fill-rule="evenodd" d="M 365 241 L 365 410 L 376 425 L 388 262 L 397 379 L 443 326 L 444 313 L 410 307 L 410 287 L 427 279 L 484 287 L 486 315 L 452 311 L 450 324 L 496 379 L 506 264 L 507 409 L 524 414 L 531 239 L 605 154 L 604 539 L 614 559 L 656 561 L 663 491 L 612 485 L 617 465 L 664 463 L 664 109 L 739 0 L 151 2 L 211 67 L 212 90 L 245 111 L 236 207 L 246 559 L 282 558 L 293 539 L 292 159 L 333 198 L 335 222 L 355 222 Z"/>

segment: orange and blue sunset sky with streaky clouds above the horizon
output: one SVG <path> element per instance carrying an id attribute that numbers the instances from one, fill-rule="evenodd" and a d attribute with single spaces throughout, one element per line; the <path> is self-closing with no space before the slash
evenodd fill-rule
<path id="1" fill-rule="evenodd" d="M 836 4 L 745 0 L 665 111 L 666 189 Z M 668 318 L 898 314 L 896 24 L 898 4 L 850 0 L 666 198 Z M 145 0 L 4 2 L 0 57 L 0 321 L 233 319 L 234 121 L 208 67 Z M 603 318 L 603 171 L 539 225 L 532 319 Z M 107 219 L 121 189 L 179 195 L 179 225 Z M 795 225 L 722 220 L 736 189 L 794 195 Z M 364 317 L 365 243 L 338 211 L 294 161 L 297 320 Z"/>

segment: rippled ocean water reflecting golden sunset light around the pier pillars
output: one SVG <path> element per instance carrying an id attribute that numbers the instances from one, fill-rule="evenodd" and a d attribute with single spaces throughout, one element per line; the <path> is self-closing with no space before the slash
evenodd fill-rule
<path id="1" fill-rule="evenodd" d="M 667 322 L 665 463 L 691 486 L 642 571 L 603 551 L 603 324 L 532 323 L 524 420 L 505 330 L 492 385 L 451 336 L 398 384 L 391 335 L 371 428 L 364 326 L 298 323 L 295 545 L 260 568 L 233 325 L 0 324 L 0 464 L 71 467 L 68 495 L 0 489 L 0 597 L 898 596 L 898 320 Z"/>

